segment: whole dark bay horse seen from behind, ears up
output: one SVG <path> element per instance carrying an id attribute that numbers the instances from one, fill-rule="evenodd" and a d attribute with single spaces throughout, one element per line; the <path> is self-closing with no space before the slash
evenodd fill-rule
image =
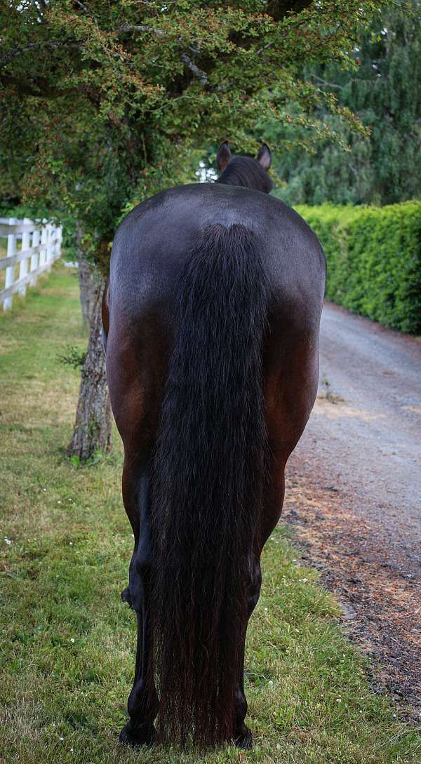
<path id="1" fill-rule="evenodd" d="M 103 303 L 108 384 L 125 447 L 138 616 L 120 740 L 200 746 L 245 726 L 245 635 L 284 468 L 316 397 L 325 257 L 270 191 L 270 151 L 219 147 L 216 183 L 125 218 Z M 158 693 L 156 689 L 159 691 Z"/>

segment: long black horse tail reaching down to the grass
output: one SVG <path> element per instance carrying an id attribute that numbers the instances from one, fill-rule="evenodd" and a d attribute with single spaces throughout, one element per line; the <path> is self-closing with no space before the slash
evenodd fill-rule
<path id="1" fill-rule="evenodd" d="M 158 736 L 229 740 L 266 474 L 267 280 L 254 234 L 212 225 L 176 294 L 154 454 L 151 639 Z"/>

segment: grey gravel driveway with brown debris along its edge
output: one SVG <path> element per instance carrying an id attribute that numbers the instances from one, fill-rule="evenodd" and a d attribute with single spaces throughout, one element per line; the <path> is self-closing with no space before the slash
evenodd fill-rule
<path id="1" fill-rule="evenodd" d="M 327 304 L 283 514 L 373 681 L 421 720 L 421 342 Z M 378 665 L 378 669 L 377 669 Z"/>

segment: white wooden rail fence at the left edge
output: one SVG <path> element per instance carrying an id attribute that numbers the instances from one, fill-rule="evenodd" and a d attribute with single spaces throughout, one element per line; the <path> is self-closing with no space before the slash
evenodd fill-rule
<path id="1" fill-rule="evenodd" d="M 7 237 L 7 256 L 0 257 L 0 271 L 6 271 L 0 303 L 7 310 L 13 295 L 24 295 L 27 286 L 34 286 L 37 277 L 60 257 L 62 228 L 29 218 L 0 218 L 0 237 Z"/>

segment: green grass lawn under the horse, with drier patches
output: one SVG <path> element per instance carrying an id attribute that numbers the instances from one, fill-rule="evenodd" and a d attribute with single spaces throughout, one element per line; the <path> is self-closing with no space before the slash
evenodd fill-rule
<path id="1" fill-rule="evenodd" d="M 419 762 L 419 735 L 370 690 L 337 604 L 314 571 L 296 565 L 282 529 L 264 552 L 248 635 L 254 750 L 199 756 L 118 746 L 134 669 L 134 614 L 119 599 L 132 539 L 118 436 L 112 455 L 90 467 L 74 468 L 63 450 L 79 379 L 57 357 L 86 342 L 75 275 L 55 267 L 0 316 L 0 331 L 0 760 Z"/>

